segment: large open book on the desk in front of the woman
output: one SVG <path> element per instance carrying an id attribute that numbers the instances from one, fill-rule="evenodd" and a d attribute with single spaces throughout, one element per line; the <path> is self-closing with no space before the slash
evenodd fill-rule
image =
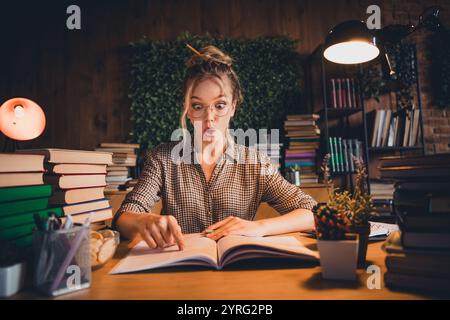
<path id="1" fill-rule="evenodd" d="M 185 248 L 176 245 L 164 249 L 150 249 L 139 242 L 127 257 L 110 272 L 120 274 L 171 266 L 211 266 L 218 270 L 224 266 L 256 258 L 292 258 L 318 261 L 316 251 L 306 248 L 293 236 L 245 237 L 230 235 L 219 241 L 200 233 L 184 235 Z"/>

